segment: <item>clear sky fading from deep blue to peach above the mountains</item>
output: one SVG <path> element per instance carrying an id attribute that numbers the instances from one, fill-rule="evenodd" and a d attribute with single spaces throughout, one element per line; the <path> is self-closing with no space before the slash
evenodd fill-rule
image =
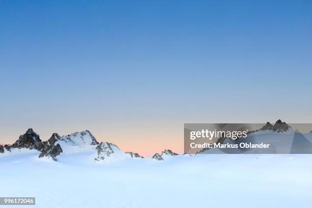
<path id="1" fill-rule="evenodd" d="M 184 123 L 312 123 L 311 1 L 0 1 L 0 143 L 89 131 L 147 156 Z"/>

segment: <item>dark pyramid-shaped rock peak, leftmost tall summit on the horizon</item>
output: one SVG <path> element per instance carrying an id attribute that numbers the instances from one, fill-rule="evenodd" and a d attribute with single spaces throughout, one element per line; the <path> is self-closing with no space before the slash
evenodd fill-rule
<path id="1" fill-rule="evenodd" d="M 41 151 L 43 144 L 39 135 L 29 128 L 24 135 L 19 136 L 18 140 L 12 144 L 11 148 L 29 148 Z"/>

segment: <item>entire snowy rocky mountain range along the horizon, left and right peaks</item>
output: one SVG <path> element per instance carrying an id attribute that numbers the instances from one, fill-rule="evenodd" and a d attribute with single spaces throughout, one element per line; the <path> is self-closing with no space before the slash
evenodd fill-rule
<path id="1" fill-rule="evenodd" d="M 203 148 L 198 153 L 312 153 L 312 134 L 297 133 L 291 126 L 281 120 L 277 120 L 274 125 L 267 122 L 263 127 L 249 132 L 246 138 L 236 140 L 219 138 L 216 143 L 240 145 L 246 142 L 253 144 L 269 143 L 270 148 Z M 36 151 L 39 158 L 49 158 L 54 161 L 59 161 L 60 155 L 76 155 L 76 153 L 82 152 L 86 153 L 95 162 L 143 159 L 139 153 L 123 152 L 115 144 L 109 142 L 99 143 L 88 130 L 75 132 L 67 136 L 54 133 L 47 141 L 42 141 L 39 135 L 32 128 L 29 128 L 12 145 L 0 145 L 0 153 L 25 150 Z M 176 155 L 179 154 L 172 152 L 170 149 L 165 149 L 149 158 L 164 161 Z"/>

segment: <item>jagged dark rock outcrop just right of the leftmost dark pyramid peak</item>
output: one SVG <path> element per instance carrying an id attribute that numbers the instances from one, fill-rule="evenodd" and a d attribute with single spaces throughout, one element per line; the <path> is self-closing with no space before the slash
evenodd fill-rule
<path id="1" fill-rule="evenodd" d="M 42 148 L 42 152 L 39 154 L 39 158 L 48 157 L 48 158 L 52 158 L 54 161 L 59 161 L 56 157 L 63 152 L 63 149 L 61 145 L 56 144 L 56 142 L 60 139 L 61 137 L 57 133 L 54 133 L 50 137 L 50 139 L 42 142 L 43 148 Z"/>

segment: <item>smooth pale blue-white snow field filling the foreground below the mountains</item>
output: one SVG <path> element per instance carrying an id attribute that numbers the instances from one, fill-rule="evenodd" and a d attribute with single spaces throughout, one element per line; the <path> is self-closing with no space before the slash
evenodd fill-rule
<path id="1" fill-rule="evenodd" d="M 0 154 L 0 196 L 34 196 L 31 207 L 312 205 L 309 154 L 198 154 L 97 163 L 94 151 L 86 149 L 63 153 L 60 162 L 39 159 L 36 150 L 20 151 Z"/>

